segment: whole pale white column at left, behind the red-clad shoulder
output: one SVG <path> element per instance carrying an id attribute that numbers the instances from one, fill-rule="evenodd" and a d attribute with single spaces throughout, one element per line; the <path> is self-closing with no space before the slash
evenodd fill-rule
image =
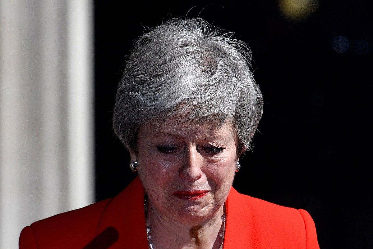
<path id="1" fill-rule="evenodd" d="M 0 0 L 0 248 L 94 201 L 93 6 Z"/>

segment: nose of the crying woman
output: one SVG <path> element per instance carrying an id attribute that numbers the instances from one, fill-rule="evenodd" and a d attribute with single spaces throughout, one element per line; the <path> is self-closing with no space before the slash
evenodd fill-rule
<path id="1" fill-rule="evenodd" d="M 183 166 L 180 169 L 179 176 L 181 179 L 194 182 L 201 178 L 203 157 L 194 148 L 189 149 L 184 154 Z"/>

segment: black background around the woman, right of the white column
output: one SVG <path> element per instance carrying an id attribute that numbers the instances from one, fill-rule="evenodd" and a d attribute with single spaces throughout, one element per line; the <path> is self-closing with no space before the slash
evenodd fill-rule
<path id="1" fill-rule="evenodd" d="M 94 2 L 97 201 L 134 178 L 111 126 L 125 56 L 144 26 L 188 13 L 235 32 L 253 53 L 264 113 L 233 186 L 307 210 L 320 248 L 373 248 L 369 1 L 321 1 L 297 18 L 280 7 L 289 1 Z"/>

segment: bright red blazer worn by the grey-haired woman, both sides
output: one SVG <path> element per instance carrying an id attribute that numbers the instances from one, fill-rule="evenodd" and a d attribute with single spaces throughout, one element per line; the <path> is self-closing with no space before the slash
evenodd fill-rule
<path id="1" fill-rule="evenodd" d="M 223 249 L 319 248 L 305 210 L 272 204 L 231 188 Z M 57 214 L 25 227 L 20 249 L 148 248 L 144 188 L 137 177 L 116 197 Z"/>

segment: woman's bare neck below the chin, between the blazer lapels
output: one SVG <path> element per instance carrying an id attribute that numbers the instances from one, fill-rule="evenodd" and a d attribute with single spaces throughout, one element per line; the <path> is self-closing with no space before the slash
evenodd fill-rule
<path id="1" fill-rule="evenodd" d="M 154 248 L 219 248 L 223 207 L 205 221 L 182 223 L 149 204 L 146 225 Z"/>

